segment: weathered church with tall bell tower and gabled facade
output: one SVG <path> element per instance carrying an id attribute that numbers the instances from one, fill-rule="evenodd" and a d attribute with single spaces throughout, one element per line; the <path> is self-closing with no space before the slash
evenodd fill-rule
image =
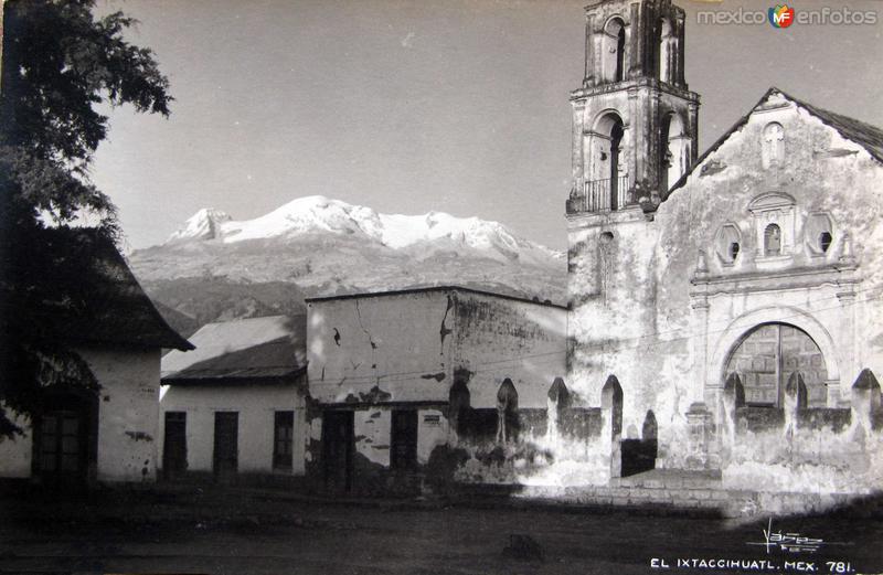
<path id="1" fill-rule="evenodd" d="M 657 467 L 870 488 L 883 130 L 770 88 L 699 157 L 683 31 L 667 0 L 586 8 L 567 385 L 613 414 L 613 476 L 616 444 L 650 428 Z"/>

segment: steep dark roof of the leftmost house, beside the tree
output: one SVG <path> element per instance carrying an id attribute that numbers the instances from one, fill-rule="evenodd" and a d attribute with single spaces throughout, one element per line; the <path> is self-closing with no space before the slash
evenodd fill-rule
<path id="1" fill-rule="evenodd" d="M 57 286 L 60 301 L 77 302 L 61 306 L 53 318 L 62 339 L 85 345 L 193 349 L 162 319 L 110 239 L 89 228 L 50 228 L 40 238 L 55 258 L 42 281 Z"/>

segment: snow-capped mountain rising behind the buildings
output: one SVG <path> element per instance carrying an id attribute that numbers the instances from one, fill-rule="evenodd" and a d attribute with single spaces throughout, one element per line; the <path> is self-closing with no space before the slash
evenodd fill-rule
<path id="1" fill-rule="evenodd" d="M 238 301 L 243 284 L 287 283 L 306 296 L 461 285 L 561 302 L 566 283 L 563 254 L 497 222 L 440 212 L 381 214 L 319 195 L 254 220 L 200 210 L 164 244 L 135 251 L 129 259 L 151 295 L 162 294 L 162 304 L 203 319 L 192 309 L 200 278 L 205 297 L 224 291 L 237 309 L 259 307 Z M 235 295 L 219 287 L 224 283 L 237 286 Z M 184 291 L 191 304 L 175 300 Z"/>

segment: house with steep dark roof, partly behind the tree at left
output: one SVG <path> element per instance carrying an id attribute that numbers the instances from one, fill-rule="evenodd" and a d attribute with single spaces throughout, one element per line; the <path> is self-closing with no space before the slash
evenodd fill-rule
<path id="1" fill-rule="evenodd" d="M 24 435 L 0 439 L 0 477 L 153 481 L 160 356 L 193 347 L 166 323 L 111 242 L 89 230 L 51 228 L 43 236 L 58 266 L 76 248 L 88 249 L 78 273 L 89 289 L 76 310 L 58 306 L 33 319 L 85 361 L 99 388 L 44 387 L 34 419 L 18 416 Z M 43 279 L 64 281 L 55 273 Z M 75 291 L 60 284 L 61 299 L 65 289 Z"/>

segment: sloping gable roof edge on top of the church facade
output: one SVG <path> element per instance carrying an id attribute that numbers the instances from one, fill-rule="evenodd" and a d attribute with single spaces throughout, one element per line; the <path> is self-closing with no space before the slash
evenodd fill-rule
<path id="1" fill-rule="evenodd" d="M 696 159 L 690 170 L 681 175 L 681 178 L 674 182 L 674 185 L 669 189 L 668 194 L 671 194 L 671 192 L 687 183 L 687 179 L 696 168 L 699 168 L 705 158 L 717 150 L 717 148 L 720 148 L 727 139 L 730 139 L 734 132 L 738 131 L 743 126 L 745 126 L 745 124 L 748 123 L 748 118 L 752 114 L 754 114 L 757 107 L 774 94 L 780 94 L 785 97 L 785 99 L 792 102 L 800 108 L 804 108 L 809 114 L 820 119 L 822 124 L 837 130 L 837 132 L 843 138 L 854 141 L 863 147 L 876 161 L 883 163 L 883 129 L 872 126 L 868 123 L 857 120 L 855 118 L 843 116 L 842 114 L 837 114 L 825 108 L 816 107 L 804 100 L 797 99 L 774 86 L 766 90 L 766 94 L 764 94 L 764 96 L 752 107 L 751 110 L 748 110 L 746 115 L 740 118 L 728 130 L 717 138 L 717 140 L 712 143 L 709 149 L 702 153 L 702 156 Z"/>

